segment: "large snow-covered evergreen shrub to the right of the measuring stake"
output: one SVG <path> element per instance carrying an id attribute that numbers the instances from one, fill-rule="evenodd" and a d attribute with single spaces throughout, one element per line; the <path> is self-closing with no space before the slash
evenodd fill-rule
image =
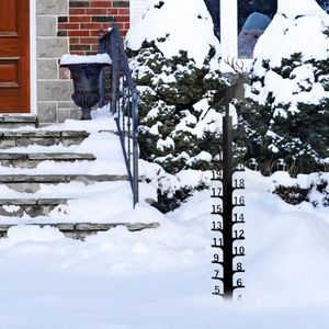
<path id="1" fill-rule="evenodd" d="M 254 49 L 241 106 L 248 158 L 270 173 L 322 170 L 329 157 L 329 18 L 315 0 L 279 2 Z M 326 160 L 327 158 L 327 160 Z"/>

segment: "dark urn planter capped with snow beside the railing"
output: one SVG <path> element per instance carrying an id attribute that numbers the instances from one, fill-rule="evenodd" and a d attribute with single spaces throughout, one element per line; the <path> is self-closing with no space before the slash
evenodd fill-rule
<path id="1" fill-rule="evenodd" d="M 70 70 L 75 92 L 72 100 L 82 110 L 81 120 L 91 120 L 90 111 L 100 100 L 100 75 L 105 66 L 111 65 L 107 54 L 90 56 L 63 55 L 60 67 Z"/>

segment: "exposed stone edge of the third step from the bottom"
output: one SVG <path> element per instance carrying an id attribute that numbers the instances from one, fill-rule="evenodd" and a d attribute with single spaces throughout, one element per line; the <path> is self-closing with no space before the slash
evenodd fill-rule
<path id="1" fill-rule="evenodd" d="M 143 178 L 141 178 L 143 179 Z M 42 184 L 59 184 L 82 182 L 93 184 L 97 182 L 127 181 L 128 175 L 118 174 L 0 174 L 0 184 L 22 193 L 35 193 Z"/>

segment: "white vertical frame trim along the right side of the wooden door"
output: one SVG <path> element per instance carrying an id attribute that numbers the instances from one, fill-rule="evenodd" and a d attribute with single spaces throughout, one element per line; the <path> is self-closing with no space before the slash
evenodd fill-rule
<path id="1" fill-rule="evenodd" d="M 30 1 L 30 114 L 37 114 L 36 94 L 36 0 Z"/>

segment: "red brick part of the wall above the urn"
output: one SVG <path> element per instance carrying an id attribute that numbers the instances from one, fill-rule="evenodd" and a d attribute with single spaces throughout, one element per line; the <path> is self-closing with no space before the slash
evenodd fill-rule
<path id="1" fill-rule="evenodd" d="M 70 54 L 95 54 L 99 31 L 106 31 L 113 16 L 125 35 L 129 29 L 129 0 L 69 0 L 69 15 L 58 18 L 57 35 L 69 37 Z"/>

